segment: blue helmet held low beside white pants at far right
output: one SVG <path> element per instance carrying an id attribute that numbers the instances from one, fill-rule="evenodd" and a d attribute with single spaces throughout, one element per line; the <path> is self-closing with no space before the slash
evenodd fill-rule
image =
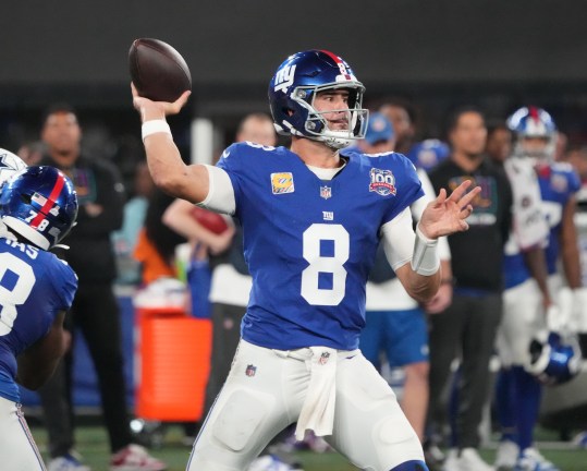
<path id="1" fill-rule="evenodd" d="M 549 333 L 547 340 L 530 342 L 530 363 L 526 371 L 546 385 L 559 385 L 575 377 L 580 370 L 582 353 L 576 336 L 561 337 Z"/>

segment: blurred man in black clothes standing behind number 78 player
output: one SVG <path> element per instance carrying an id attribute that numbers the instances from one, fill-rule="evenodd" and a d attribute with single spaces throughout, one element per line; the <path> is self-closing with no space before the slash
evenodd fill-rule
<path id="1" fill-rule="evenodd" d="M 66 318 L 70 331 L 80 328 L 98 376 L 111 471 L 160 471 L 166 464 L 132 444 L 126 410 L 126 387 L 119 307 L 112 291 L 115 277 L 110 237 L 122 224 L 124 189 L 114 168 L 82 154 L 82 130 L 68 105 L 51 107 L 42 121 L 47 146 L 42 164 L 61 169 L 71 178 L 80 201 L 75 231 L 68 238 L 68 261 L 80 278 L 77 294 Z M 68 352 L 53 378 L 40 389 L 49 433 L 49 471 L 85 471 L 73 452 L 72 354 Z"/>

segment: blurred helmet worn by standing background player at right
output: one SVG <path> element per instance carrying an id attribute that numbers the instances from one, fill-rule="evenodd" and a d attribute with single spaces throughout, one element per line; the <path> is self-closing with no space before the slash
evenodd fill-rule
<path id="1" fill-rule="evenodd" d="M 557 140 L 557 125 L 552 117 L 542 108 L 524 107 L 507 118 L 507 128 L 515 137 L 514 155 L 552 159 Z M 543 148 L 528 150 L 524 140 L 538 137 L 545 140 Z"/>

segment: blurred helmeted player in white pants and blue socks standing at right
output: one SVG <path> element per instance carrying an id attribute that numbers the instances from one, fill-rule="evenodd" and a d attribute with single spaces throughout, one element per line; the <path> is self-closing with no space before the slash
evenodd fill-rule
<path id="1" fill-rule="evenodd" d="M 567 164 L 553 160 L 557 132 L 545 110 L 522 108 L 510 117 L 507 125 L 515 136 L 513 156 L 505 160 L 505 168 L 514 196 L 517 193 L 514 232 L 518 233 L 505 247 L 504 316 L 497 343 L 502 371 L 496 398 L 502 439 L 496 467 L 499 470 L 557 471 L 558 468 L 533 447 L 533 432 L 540 407 L 539 379 L 555 384 L 567 381 L 576 373 L 570 362 L 578 361 L 574 359 L 573 349 L 557 358 L 547 358 L 539 350 L 541 347 L 543 353 L 548 346 L 557 353 L 560 343 L 553 345 L 552 338 L 560 342 L 560 335 L 573 329 L 575 324 L 570 313 L 557 307 L 563 285 L 557 269 L 559 258 L 563 262 L 566 283 L 576 290 L 577 300 L 583 291 L 573 222 L 578 179 Z M 539 210 L 535 207 L 536 201 L 540 203 Z M 530 251 L 538 255 L 533 264 L 533 258 L 528 258 L 528 253 L 525 256 L 524 251 L 533 245 L 543 246 L 542 235 L 548 244 L 546 264 L 541 250 Z M 549 330 L 557 331 L 554 337 L 549 337 Z"/>

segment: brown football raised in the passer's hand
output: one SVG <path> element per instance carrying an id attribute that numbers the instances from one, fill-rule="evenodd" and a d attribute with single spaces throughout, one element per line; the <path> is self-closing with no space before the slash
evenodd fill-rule
<path id="1" fill-rule="evenodd" d="M 192 75 L 183 57 L 159 39 L 135 39 L 129 51 L 131 80 L 138 95 L 154 101 L 175 101 L 192 89 Z"/>

